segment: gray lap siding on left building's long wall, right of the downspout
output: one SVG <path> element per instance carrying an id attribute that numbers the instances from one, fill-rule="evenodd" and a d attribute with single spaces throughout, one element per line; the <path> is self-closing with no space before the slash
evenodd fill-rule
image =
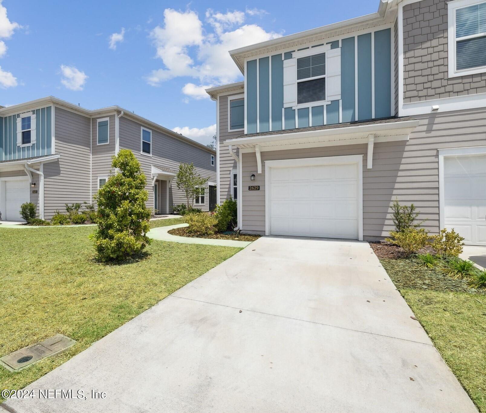
<path id="1" fill-rule="evenodd" d="M 140 127 L 152 130 L 152 156 L 140 153 Z M 120 148 L 130 149 L 139 160 L 142 170 L 147 176 L 146 189 L 149 193 L 147 202 L 148 208 L 154 208 L 154 190 L 152 186 L 152 165 L 159 169 L 169 168 L 177 173 L 181 162 L 193 163 L 199 175 L 208 178 L 209 181 L 216 182 L 216 165 L 211 166 L 211 152 L 199 148 L 190 143 L 168 136 L 151 126 L 142 125 L 124 116 L 120 118 Z M 160 185 L 163 201 L 166 200 L 165 185 Z M 161 197 L 162 198 L 162 197 Z M 177 188 L 175 180 L 169 189 L 169 206 L 172 212 L 173 204 L 186 203 L 186 198 L 182 190 Z M 162 211 L 164 205 L 162 205 Z M 205 203 L 194 204 L 195 207 L 203 211 L 209 209 L 208 184 L 206 184 Z"/>

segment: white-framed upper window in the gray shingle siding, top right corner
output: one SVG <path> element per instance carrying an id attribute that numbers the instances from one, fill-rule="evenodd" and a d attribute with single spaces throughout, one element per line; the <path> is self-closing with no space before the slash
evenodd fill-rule
<path id="1" fill-rule="evenodd" d="M 486 3 L 455 10 L 456 71 L 486 66 Z"/>

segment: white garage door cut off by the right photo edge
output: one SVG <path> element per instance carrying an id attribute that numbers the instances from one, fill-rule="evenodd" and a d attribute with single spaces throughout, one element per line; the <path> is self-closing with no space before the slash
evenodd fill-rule
<path id="1" fill-rule="evenodd" d="M 444 158 L 444 224 L 486 245 L 486 155 Z"/>

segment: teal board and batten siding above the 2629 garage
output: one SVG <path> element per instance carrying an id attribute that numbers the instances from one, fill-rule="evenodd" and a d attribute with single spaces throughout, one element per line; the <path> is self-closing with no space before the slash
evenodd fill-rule
<path id="1" fill-rule="evenodd" d="M 299 108 L 297 115 L 295 109 L 285 108 L 283 125 L 283 60 L 291 59 L 292 51 L 247 61 L 246 133 L 391 116 L 391 29 L 333 40 L 327 44 L 336 49 L 340 43 L 341 102 L 331 101 L 325 108 Z M 308 47 L 299 50 L 303 49 Z"/>

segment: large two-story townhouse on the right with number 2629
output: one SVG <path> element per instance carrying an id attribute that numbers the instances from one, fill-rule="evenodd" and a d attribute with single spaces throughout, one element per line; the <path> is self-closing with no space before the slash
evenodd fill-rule
<path id="1" fill-rule="evenodd" d="M 486 245 L 486 1 L 378 12 L 230 51 L 218 202 L 243 232 L 382 239 L 390 205 Z"/>

